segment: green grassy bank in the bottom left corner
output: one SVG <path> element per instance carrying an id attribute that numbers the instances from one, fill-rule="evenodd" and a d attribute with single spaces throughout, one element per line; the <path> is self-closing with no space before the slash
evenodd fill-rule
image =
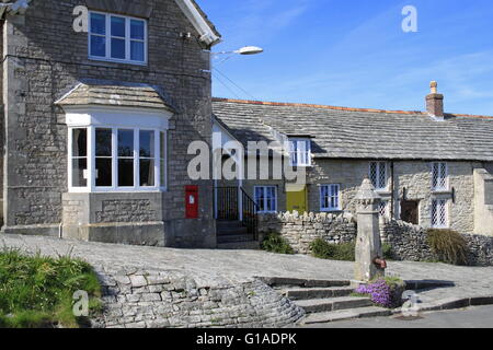
<path id="1" fill-rule="evenodd" d="M 88 292 L 90 315 L 101 311 L 101 285 L 88 262 L 0 250 L 0 327 L 83 327 L 88 318 L 72 312 L 78 290 Z"/>

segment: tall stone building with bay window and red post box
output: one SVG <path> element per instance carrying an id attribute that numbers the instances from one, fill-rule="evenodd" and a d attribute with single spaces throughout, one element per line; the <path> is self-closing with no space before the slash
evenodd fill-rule
<path id="1" fill-rule="evenodd" d="M 2 233 L 215 247 L 210 48 L 193 0 L 1 0 Z M 194 206 L 186 211 L 185 194 Z"/>

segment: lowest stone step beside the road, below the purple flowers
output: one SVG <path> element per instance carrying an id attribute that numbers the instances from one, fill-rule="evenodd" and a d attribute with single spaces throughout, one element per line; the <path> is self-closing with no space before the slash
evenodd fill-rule
<path id="1" fill-rule="evenodd" d="M 353 318 L 390 316 L 392 312 L 390 310 L 378 306 L 356 307 L 349 310 L 339 310 L 318 314 L 309 314 L 301 320 L 301 324 L 306 325 L 323 324 L 329 322 L 353 319 Z"/>

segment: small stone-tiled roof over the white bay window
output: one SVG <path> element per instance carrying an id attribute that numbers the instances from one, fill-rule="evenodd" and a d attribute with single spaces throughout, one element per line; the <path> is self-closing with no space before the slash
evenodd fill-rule
<path id="1" fill-rule="evenodd" d="M 105 105 L 139 108 L 173 108 L 169 97 L 157 86 L 104 80 L 83 80 L 56 102 L 61 106 Z"/>

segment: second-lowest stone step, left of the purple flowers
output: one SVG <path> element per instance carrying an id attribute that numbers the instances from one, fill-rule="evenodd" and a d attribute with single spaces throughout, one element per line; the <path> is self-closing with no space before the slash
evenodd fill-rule
<path id="1" fill-rule="evenodd" d="M 369 298 L 357 296 L 299 300 L 296 301 L 295 304 L 303 308 L 307 314 L 324 313 L 330 311 L 357 308 L 372 305 Z"/>

